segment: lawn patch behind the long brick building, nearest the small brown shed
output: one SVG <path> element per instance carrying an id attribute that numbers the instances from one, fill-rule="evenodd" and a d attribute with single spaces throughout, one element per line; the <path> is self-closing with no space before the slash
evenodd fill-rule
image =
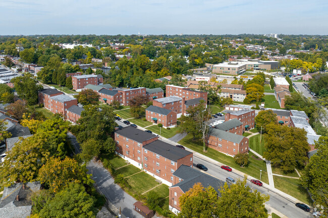
<path id="1" fill-rule="evenodd" d="M 128 183 L 131 185 L 130 191 L 141 195 L 143 192 L 158 185 L 155 178 L 145 172 L 138 173 L 128 178 Z"/>

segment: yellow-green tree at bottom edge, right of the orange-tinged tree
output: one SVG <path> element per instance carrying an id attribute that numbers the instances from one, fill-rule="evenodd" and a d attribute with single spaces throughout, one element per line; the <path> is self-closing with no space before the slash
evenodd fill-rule
<path id="1" fill-rule="evenodd" d="M 267 218 L 264 203 L 269 200 L 268 195 L 262 195 L 256 189 L 251 190 L 246 185 L 247 178 L 230 187 L 225 183 L 220 189 L 221 197 L 217 202 L 217 217 L 247 217 Z"/>

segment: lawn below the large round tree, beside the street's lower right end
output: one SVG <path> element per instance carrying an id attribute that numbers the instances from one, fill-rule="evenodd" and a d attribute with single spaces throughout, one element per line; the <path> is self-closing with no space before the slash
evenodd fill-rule
<path id="1" fill-rule="evenodd" d="M 275 187 L 308 205 L 312 205 L 310 196 L 305 188 L 300 185 L 299 179 L 290 179 L 279 176 L 274 176 Z"/>

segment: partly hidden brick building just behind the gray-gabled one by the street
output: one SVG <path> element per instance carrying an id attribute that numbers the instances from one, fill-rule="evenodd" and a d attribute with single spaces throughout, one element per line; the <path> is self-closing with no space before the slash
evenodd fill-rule
<path id="1" fill-rule="evenodd" d="M 239 111 L 234 111 L 231 113 L 226 113 L 225 120 L 238 119 L 243 123 L 244 130 L 249 130 L 255 127 L 255 110 L 243 109 Z"/>

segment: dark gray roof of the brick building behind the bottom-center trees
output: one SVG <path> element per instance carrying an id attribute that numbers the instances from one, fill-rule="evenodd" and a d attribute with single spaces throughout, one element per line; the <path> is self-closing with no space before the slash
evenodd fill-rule
<path id="1" fill-rule="evenodd" d="M 180 187 L 185 193 L 192 188 L 195 183 L 200 182 L 205 188 L 208 186 L 213 187 L 217 194 L 220 195 L 220 191 L 218 190 L 225 184 L 225 182 L 220 179 L 216 179 L 186 165 L 181 165 L 173 175 L 183 179 L 183 181 L 169 188 Z"/>

